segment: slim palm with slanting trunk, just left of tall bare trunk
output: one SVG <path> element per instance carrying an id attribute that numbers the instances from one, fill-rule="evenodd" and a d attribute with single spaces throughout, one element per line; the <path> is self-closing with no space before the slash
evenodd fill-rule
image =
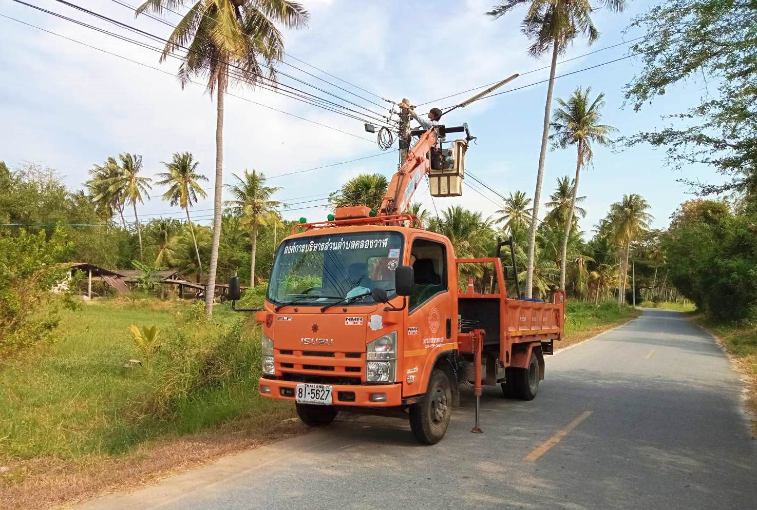
<path id="1" fill-rule="evenodd" d="M 197 247 L 197 240 L 195 239 L 195 227 L 192 225 L 192 219 L 189 218 L 189 206 L 198 203 L 198 197 L 206 198 L 207 193 L 200 187 L 199 181 L 207 181 L 207 177 L 197 173 L 197 167 L 200 163 L 192 158 L 192 153 L 178 152 L 173 153 L 173 159 L 170 163 L 163 164 L 166 166 L 168 172 L 157 174 L 158 177 L 163 179 L 155 184 L 161 186 L 169 186 L 168 190 L 163 194 L 164 200 L 169 201 L 173 206 L 178 205 L 187 214 L 187 225 L 189 225 L 189 232 L 192 232 L 192 239 L 195 244 L 195 255 L 197 256 L 198 268 L 200 269 L 200 278 L 202 278 L 202 259 L 200 258 L 200 250 Z"/>

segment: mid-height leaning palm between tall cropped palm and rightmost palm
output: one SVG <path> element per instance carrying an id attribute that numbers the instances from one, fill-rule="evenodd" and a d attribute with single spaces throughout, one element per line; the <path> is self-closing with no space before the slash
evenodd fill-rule
<path id="1" fill-rule="evenodd" d="M 560 258 L 560 288 L 565 287 L 565 252 L 569 229 L 571 229 L 571 222 L 576 211 L 575 204 L 579 201 L 576 195 L 578 194 L 581 167 L 592 163 L 594 155 L 592 145 L 611 145 L 612 142 L 607 135 L 616 131 L 612 126 L 600 124 L 602 109 L 605 106 L 605 95 L 597 95 L 597 98 L 591 101 L 590 92 L 591 87 L 587 87 L 585 91 L 581 87 L 577 87 L 568 101 L 558 98 L 559 107 L 555 109 L 550 124 L 550 129 L 553 132 L 550 135 L 550 139 L 553 140 L 553 147 L 566 148 L 569 145 L 575 145 L 576 148 L 573 192 L 568 211 L 568 221 L 565 222 L 565 236 L 562 241 L 562 257 Z"/>

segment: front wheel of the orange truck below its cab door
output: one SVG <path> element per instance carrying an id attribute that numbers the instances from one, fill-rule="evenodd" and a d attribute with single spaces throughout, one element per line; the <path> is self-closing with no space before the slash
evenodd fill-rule
<path id="1" fill-rule="evenodd" d="M 436 369 L 431 372 L 423 401 L 410 407 L 410 430 L 420 443 L 436 444 L 447 432 L 451 415 L 450 378 Z"/>

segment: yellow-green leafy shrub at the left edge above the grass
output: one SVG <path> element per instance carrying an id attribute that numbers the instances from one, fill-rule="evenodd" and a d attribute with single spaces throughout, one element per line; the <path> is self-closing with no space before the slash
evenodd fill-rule
<path id="1" fill-rule="evenodd" d="M 67 266 L 57 263 L 69 250 L 58 230 L 49 240 L 23 229 L 0 238 L 0 359 L 55 337 L 57 306 L 74 306 L 67 288 L 76 285 L 65 286 Z"/>

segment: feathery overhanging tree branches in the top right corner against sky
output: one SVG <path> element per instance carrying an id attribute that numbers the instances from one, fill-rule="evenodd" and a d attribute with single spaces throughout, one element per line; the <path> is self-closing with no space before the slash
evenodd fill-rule
<path id="1" fill-rule="evenodd" d="M 634 110 L 671 86 L 699 82 L 705 92 L 667 127 L 625 138 L 629 146 L 666 148 L 674 169 L 709 165 L 731 179 L 720 185 L 690 182 L 699 194 L 757 190 L 757 3 L 753 0 L 662 0 L 629 30 L 645 30 L 631 48 L 643 67 L 625 97 Z M 685 181 L 684 181 L 685 182 Z"/>

